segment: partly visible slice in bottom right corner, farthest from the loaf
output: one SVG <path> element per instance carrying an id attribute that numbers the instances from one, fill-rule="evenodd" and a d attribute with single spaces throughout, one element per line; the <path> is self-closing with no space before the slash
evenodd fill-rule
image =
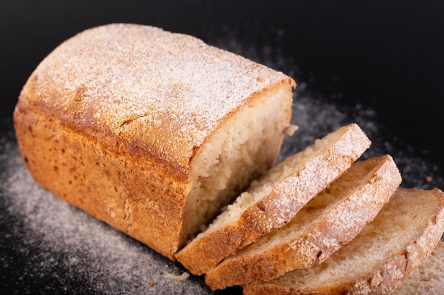
<path id="1" fill-rule="evenodd" d="M 444 293 L 444 242 L 396 288 L 391 295 L 438 295 Z"/>

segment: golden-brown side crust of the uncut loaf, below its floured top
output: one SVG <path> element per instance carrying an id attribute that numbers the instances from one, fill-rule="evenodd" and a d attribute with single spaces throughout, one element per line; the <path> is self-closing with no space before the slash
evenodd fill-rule
<path id="1" fill-rule="evenodd" d="M 155 164 L 123 148 L 121 154 L 113 154 L 55 117 L 18 108 L 15 118 L 21 154 L 37 183 L 172 256 L 181 222 L 171 216 L 182 212 L 180 198 L 167 196 L 184 196 L 187 183 L 159 173 Z"/>

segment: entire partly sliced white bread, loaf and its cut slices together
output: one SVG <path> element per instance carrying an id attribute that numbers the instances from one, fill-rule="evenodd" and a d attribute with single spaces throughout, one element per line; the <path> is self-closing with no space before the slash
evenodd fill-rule
<path id="1" fill-rule="evenodd" d="M 444 192 L 396 190 L 391 156 L 355 162 L 360 127 L 273 166 L 295 86 L 195 37 L 116 23 L 45 57 L 13 121 L 36 182 L 212 289 L 440 294 Z"/>

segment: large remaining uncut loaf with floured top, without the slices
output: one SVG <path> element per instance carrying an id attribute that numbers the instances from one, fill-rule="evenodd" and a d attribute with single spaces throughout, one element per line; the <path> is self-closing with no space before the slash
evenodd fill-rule
<path id="1" fill-rule="evenodd" d="M 272 166 L 295 86 L 195 37 L 109 24 L 45 57 L 13 120 L 36 182 L 174 259 Z"/>

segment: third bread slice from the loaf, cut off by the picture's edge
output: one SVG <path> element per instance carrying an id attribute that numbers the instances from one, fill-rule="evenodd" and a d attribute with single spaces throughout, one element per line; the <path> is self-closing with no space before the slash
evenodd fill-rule
<path id="1" fill-rule="evenodd" d="M 444 192 L 399 188 L 372 223 L 308 269 L 244 287 L 244 294 L 389 294 L 431 254 L 444 231 Z"/>

